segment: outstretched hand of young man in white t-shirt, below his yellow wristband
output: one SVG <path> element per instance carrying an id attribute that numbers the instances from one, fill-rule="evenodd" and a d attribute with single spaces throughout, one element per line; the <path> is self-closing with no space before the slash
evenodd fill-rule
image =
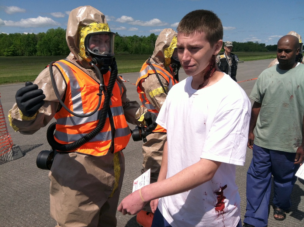
<path id="1" fill-rule="evenodd" d="M 123 215 L 134 215 L 140 212 L 146 203 L 140 198 L 139 190 L 136 190 L 121 201 L 117 210 Z"/>

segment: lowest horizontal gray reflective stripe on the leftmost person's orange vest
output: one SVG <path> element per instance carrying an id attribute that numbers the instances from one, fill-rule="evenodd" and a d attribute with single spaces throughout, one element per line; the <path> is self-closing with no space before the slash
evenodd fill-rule
<path id="1" fill-rule="evenodd" d="M 116 129 L 115 130 L 115 138 L 117 137 L 122 137 L 122 136 L 127 136 L 131 133 L 130 128 L 126 127 L 123 129 Z M 87 135 L 87 133 L 82 133 L 82 134 L 67 134 L 64 132 L 59 132 L 55 131 L 54 136 L 64 142 L 73 142 L 76 141 L 83 136 Z M 98 142 L 98 141 L 107 141 L 112 139 L 112 132 L 99 132 L 97 136 L 95 136 L 93 139 L 91 139 L 91 142 Z"/>

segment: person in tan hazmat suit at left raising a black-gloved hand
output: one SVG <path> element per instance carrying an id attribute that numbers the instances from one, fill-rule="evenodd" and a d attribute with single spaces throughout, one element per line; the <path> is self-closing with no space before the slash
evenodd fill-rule
<path id="1" fill-rule="evenodd" d="M 117 77 L 113 59 L 114 33 L 104 14 L 91 6 L 73 9 L 66 40 L 69 56 L 50 64 L 34 84 L 26 82 L 17 91 L 9 120 L 22 134 L 35 133 L 53 117 L 57 120 L 56 132 L 51 136 L 55 142 L 51 145 L 48 139 L 52 148 L 59 147 L 49 172 L 50 215 L 57 226 L 116 226 L 125 170 L 122 150 L 131 136 L 126 121 L 145 126 L 138 121 L 142 117 L 147 128 L 153 130 L 156 124 L 148 122 L 156 116 L 126 98 L 126 88 Z M 52 86 L 52 77 L 57 89 Z M 108 94 L 110 83 L 112 92 Z M 98 97 L 102 97 L 99 103 Z M 106 105 L 107 97 L 110 100 Z M 97 129 L 98 122 L 104 125 L 96 135 L 80 146 L 65 147 Z"/>

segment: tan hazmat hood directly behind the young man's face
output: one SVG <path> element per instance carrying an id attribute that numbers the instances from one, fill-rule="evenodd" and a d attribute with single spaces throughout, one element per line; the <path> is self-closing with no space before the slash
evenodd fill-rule
<path id="1" fill-rule="evenodd" d="M 154 52 L 150 59 L 152 64 L 166 68 L 171 63 L 171 57 L 177 44 L 177 33 L 166 28 L 161 31 L 155 42 Z"/>

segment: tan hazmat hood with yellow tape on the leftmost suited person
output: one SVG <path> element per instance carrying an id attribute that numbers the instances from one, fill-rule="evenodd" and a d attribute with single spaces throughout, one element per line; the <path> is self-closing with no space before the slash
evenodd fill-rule
<path id="1" fill-rule="evenodd" d="M 92 6 L 80 6 L 70 12 L 67 22 L 66 40 L 71 54 L 84 68 L 91 68 L 91 60 L 85 55 L 85 36 L 88 33 L 110 32 L 105 15 Z"/>

